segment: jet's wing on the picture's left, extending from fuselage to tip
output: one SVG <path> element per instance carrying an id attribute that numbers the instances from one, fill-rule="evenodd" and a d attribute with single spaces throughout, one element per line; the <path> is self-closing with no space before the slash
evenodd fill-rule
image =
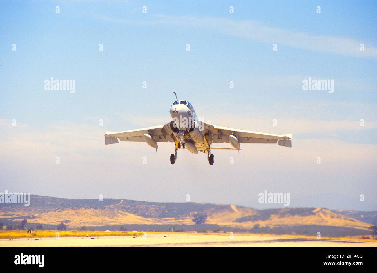
<path id="1" fill-rule="evenodd" d="M 115 144 L 120 141 L 138 141 L 145 142 L 144 134 L 149 134 L 156 142 L 174 142 L 172 138 L 172 130 L 170 124 L 158 125 L 153 127 L 122 131 L 122 132 L 106 132 L 105 144 Z"/>

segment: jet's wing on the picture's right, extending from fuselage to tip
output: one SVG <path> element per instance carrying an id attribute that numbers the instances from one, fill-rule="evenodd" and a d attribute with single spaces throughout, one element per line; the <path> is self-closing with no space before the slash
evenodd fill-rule
<path id="1" fill-rule="evenodd" d="M 202 125 L 200 124 L 202 123 Z M 199 126 L 208 130 L 213 136 L 212 143 L 229 143 L 229 136 L 234 134 L 239 143 L 274 143 L 279 146 L 292 147 L 292 134 L 268 134 L 254 131 L 241 130 L 209 124 L 199 121 Z"/>

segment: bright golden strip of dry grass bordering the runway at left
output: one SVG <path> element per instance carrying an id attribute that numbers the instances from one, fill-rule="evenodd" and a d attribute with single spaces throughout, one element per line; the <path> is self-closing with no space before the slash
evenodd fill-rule
<path id="1" fill-rule="evenodd" d="M 0 239 L 14 239 L 14 238 L 43 238 L 43 237 L 56 237 L 59 232 L 60 237 L 95 237 L 95 236 L 139 236 L 143 232 L 132 231 L 58 231 L 58 230 L 36 230 L 33 233 L 26 233 L 26 230 L 1 230 Z"/>

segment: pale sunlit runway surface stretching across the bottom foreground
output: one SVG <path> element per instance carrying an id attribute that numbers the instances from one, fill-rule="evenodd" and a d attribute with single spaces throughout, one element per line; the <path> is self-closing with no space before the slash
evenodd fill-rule
<path id="1" fill-rule="evenodd" d="M 145 236 L 100 236 L 64 238 L 1 239 L 0 247 L 101 247 L 101 246 L 253 246 L 253 247 L 328 247 L 366 246 L 377 247 L 377 242 L 361 242 L 339 239 L 303 239 L 282 236 L 202 235 L 202 234 L 147 234 Z M 35 240 L 37 239 L 37 240 Z"/>

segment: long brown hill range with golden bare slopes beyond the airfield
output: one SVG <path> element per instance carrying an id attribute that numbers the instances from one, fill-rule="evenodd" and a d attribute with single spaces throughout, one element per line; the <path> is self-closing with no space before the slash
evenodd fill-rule
<path id="1" fill-rule="evenodd" d="M 57 225 L 69 228 L 117 224 L 194 224 L 196 212 L 208 215 L 206 224 L 252 229 L 277 226 L 333 226 L 368 229 L 371 224 L 325 208 L 258 210 L 250 207 L 199 203 L 155 203 L 120 199 L 66 199 L 31 195 L 30 206 L 0 204 L 0 221 Z"/>

